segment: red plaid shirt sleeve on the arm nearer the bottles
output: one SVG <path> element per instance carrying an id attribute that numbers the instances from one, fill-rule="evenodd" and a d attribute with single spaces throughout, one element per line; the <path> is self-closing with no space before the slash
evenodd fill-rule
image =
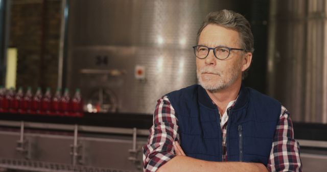
<path id="1" fill-rule="evenodd" d="M 156 171 L 174 158 L 173 142 L 179 140 L 175 110 L 167 96 L 158 100 L 148 143 L 143 147 L 144 171 Z"/>

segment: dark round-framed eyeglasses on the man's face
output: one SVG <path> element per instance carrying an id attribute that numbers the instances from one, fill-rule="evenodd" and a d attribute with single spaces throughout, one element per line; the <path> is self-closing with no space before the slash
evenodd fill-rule
<path id="1" fill-rule="evenodd" d="M 204 45 L 196 45 L 193 46 L 194 49 L 194 53 L 197 56 L 197 58 L 199 59 L 204 59 L 208 56 L 209 51 L 212 49 L 214 51 L 214 55 L 217 59 L 219 60 L 225 60 L 228 58 L 229 54 L 230 54 L 230 50 L 242 50 L 244 51 L 244 49 L 240 49 L 240 48 L 229 48 L 229 47 L 225 47 L 225 46 L 218 46 L 215 48 L 209 48 L 207 46 Z"/>

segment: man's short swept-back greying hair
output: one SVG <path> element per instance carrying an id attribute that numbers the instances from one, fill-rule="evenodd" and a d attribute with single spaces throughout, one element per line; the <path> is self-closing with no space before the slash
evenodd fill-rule
<path id="1" fill-rule="evenodd" d="M 241 46 L 246 52 L 253 53 L 254 39 L 251 32 L 249 21 L 241 14 L 231 10 L 221 10 L 209 13 L 198 31 L 196 42 L 199 42 L 200 34 L 205 26 L 208 24 L 218 24 L 226 28 L 231 28 L 239 33 L 241 39 Z"/>

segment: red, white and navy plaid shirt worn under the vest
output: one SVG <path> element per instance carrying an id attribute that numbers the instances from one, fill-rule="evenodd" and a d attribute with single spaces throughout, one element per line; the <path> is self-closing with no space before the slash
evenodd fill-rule
<path id="1" fill-rule="evenodd" d="M 228 105 L 232 106 L 232 103 Z M 227 161 L 225 142 L 228 114 L 225 113 L 221 118 L 223 161 Z M 179 141 L 177 121 L 175 110 L 168 97 L 159 99 L 148 143 L 143 147 L 144 171 L 156 171 L 176 156 L 173 141 Z M 294 139 L 292 121 L 284 106 L 282 106 L 281 116 L 276 126 L 267 168 L 269 171 L 302 171 L 299 145 Z"/>

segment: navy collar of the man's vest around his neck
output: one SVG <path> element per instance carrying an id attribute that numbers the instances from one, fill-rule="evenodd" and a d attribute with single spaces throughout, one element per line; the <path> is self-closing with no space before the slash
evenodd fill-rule
<path id="1" fill-rule="evenodd" d="M 198 97 L 199 97 L 199 102 L 203 104 L 204 106 L 212 109 L 216 109 L 216 105 L 213 103 L 209 95 L 206 93 L 205 89 L 202 88 L 201 85 L 198 87 Z M 249 92 L 248 90 L 244 87 L 244 85 L 241 85 L 241 89 L 239 92 L 239 97 L 236 100 L 235 105 L 233 106 L 233 109 L 240 109 L 246 105 L 249 99 Z"/>

